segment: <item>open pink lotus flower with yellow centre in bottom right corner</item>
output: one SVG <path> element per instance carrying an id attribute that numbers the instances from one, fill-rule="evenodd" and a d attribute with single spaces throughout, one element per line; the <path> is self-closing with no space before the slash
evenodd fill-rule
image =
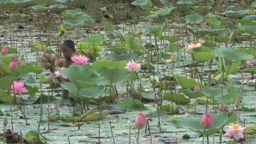
<path id="1" fill-rule="evenodd" d="M 227 138 L 234 137 L 236 140 L 239 140 L 240 138 L 243 139 L 243 131 L 245 128 L 242 128 L 241 126 L 237 124 L 233 124 L 231 126 L 227 126 L 227 133 L 225 133 L 223 136 L 227 136 Z"/>

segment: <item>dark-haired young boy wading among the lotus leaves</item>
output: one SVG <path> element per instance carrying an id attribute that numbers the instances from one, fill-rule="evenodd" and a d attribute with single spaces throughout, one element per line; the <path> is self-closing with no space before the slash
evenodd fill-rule
<path id="1" fill-rule="evenodd" d="M 69 67 L 73 61 L 71 57 L 75 53 L 75 43 L 72 40 L 65 40 L 61 45 L 61 51 L 64 56 L 64 60 L 59 61 L 59 67 Z M 63 90 L 63 97 L 67 99 L 69 96 L 69 92 L 67 90 Z"/>

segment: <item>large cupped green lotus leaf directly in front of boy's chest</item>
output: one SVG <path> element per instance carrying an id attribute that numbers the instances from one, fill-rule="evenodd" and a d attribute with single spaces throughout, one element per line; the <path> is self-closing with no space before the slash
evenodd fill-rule
<path id="1" fill-rule="evenodd" d="M 109 80 L 101 75 L 89 64 L 71 65 L 65 69 L 59 69 L 77 88 L 90 88 L 96 85 L 107 85 Z"/>

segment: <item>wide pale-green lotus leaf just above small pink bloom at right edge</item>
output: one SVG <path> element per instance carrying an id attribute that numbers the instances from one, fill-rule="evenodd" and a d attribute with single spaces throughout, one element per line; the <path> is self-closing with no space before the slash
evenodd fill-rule
<path id="1" fill-rule="evenodd" d="M 252 61 L 254 56 L 248 53 L 241 53 L 238 49 L 235 48 L 215 48 L 216 53 L 219 56 L 224 57 L 229 62 L 238 62 L 238 61 Z"/>

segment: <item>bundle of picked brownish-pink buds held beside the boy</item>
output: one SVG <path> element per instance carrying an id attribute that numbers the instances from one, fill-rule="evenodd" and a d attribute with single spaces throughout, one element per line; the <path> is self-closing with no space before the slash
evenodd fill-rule
<path id="1" fill-rule="evenodd" d="M 48 70 L 53 70 L 55 69 L 55 60 L 56 60 L 56 55 L 53 53 L 45 53 L 41 51 L 41 57 L 38 59 L 41 62 L 41 66 Z"/>

